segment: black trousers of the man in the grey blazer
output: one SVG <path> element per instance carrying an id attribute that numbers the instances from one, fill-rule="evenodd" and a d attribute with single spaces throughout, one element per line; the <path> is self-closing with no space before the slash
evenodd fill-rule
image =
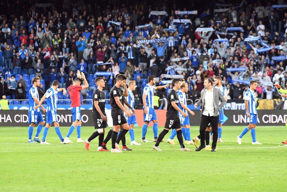
<path id="1" fill-rule="evenodd" d="M 200 122 L 200 145 L 204 145 L 205 142 L 205 129 L 208 126 L 208 123 L 211 124 L 212 126 L 212 132 L 213 132 L 213 137 L 212 137 L 212 148 L 216 148 L 216 143 L 218 139 L 218 116 L 213 117 L 213 116 L 206 116 L 202 115 L 201 116 L 201 122 Z"/>

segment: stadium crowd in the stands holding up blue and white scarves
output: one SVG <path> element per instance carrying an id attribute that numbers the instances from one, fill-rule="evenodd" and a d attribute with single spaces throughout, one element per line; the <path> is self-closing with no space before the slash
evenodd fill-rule
<path id="1" fill-rule="evenodd" d="M 35 76 L 40 95 L 54 80 L 67 88 L 77 70 L 90 84 L 84 99 L 96 89 L 96 77 L 104 77 L 108 98 L 119 73 L 136 82 L 136 106 L 148 75 L 157 84 L 184 78 L 190 102 L 199 98 L 203 79 L 215 76 L 228 99 L 242 100 L 250 80 L 259 82 L 258 98 L 279 98 L 273 83 L 287 81 L 284 1 L 128 2 L 2 1 L 0 98 L 26 98 Z"/>

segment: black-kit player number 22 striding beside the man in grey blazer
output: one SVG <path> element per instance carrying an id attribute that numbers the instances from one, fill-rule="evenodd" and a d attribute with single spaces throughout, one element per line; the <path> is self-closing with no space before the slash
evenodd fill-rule
<path id="1" fill-rule="evenodd" d="M 183 115 L 183 117 L 187 116 L 186 113 L 184 113 L 181 109 L 179 109 L 179 98 L 177 95 L 177 90 L 179 90 L 181 86 L 180 79 L 172 79 L 171 83 L 172 83 L 173 89 L 171 90 L 170 94 L 168 94 L 168 99 L 167 99 L 168 104 L 167 104 L 167 110 L 166 110 L 166 122 L 164 125 L 164 130 L 162 130 L 162 132 L 158 136 L 158 141 L 154 145 L 153 149 L 155 149 L 156 151 L 162 151 L 158 147 L 158 145 L 160 144 L 160 141 L 164 138 L 164 136 L 168 133 L 170 129 L 176 129 L 177 139 L 179 140 L 181 151 L 191 151 L 190 149 L 187 149 L 184 146 L 182 131 L 181 131 L 181 122 L 178 116 L 178 111 Z"/>

